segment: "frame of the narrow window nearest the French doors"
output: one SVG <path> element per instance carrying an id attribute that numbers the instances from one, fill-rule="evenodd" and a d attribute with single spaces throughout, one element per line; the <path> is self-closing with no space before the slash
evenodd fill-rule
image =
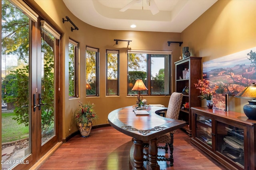
<path id="1" fill-rule="evenodd" d="M 78 63 L 78 47 L 79 44 L 76 41 L 73 41 L 72 39 L 69 39 L 68 46 L 69 44 L 74 45 L 74 95 L 69 96 L 69 98 L 78 98 L 78 68 L 79 68 L 79 63 Z M 69 48 L 68 48 L 69 49 Z M 68 59 L 69 59 L 69 53 L 68 53 Z M 69 70 L 68 70 L 69 71 Z M 68 92 L 69 94 L 69 92 Z"/>

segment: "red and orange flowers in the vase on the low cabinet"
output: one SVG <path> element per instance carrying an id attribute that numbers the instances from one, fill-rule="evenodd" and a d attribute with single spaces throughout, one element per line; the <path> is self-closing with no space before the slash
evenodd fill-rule
<path id="1" fill-rule="evenodd" d="M 219 86 L 216 86 L 215 84 L 210 84 L 209 80 L 198 80 L 198 84 L 194 83 L 196 89 L 200 90 L 201 95 L 198 96 L 201 98 L 201 100 L 212 100 L 212 95 L 216 93 L 216 90 L 219 88 Z"/>

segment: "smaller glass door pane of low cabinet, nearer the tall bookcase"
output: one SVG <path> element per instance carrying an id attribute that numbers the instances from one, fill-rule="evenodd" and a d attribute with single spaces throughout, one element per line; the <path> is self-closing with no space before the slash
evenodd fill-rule
<path id="1" fill-rule="evenodd" d="M 196 114 L 196 138 L 212 148 L 212 119 Z"/>

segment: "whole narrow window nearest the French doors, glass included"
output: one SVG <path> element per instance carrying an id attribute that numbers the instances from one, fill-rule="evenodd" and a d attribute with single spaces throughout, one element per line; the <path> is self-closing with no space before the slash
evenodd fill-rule
<path id="1" fill-rule="evenodd" d="M 68 44 L 69 97 L 78 98 L 78 43 L 69 40 Z"/>

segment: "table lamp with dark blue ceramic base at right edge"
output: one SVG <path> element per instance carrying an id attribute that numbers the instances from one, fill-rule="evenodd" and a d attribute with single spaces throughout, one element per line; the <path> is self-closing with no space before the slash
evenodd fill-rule
<path id="1" fill-rule="evenodd" d="M 250 84 L 248 87 L 244 88 L 240 93 L 238 93 L 236 98 L 252 99 L 249 100 L 249 104 L 244 105 L 244 114 L 249 119 L 256 120 L 256 84 Z"/>

